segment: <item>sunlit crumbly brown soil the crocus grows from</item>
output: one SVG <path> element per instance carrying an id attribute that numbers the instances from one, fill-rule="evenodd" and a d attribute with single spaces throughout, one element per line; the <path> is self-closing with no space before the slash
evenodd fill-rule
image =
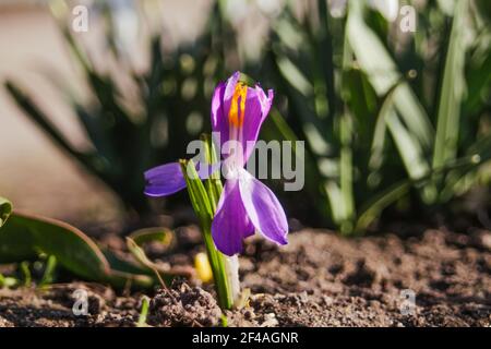
<path id="1" fill-rule="evenodd" d="M 248 306 L 230 326 L 490 326 L 491 232 L 427 230 L 344 239 L 303 230 L 287 248 L 255 239 L 241 256 Z M 89 315 L 72 312 L 73 291 L 88 292 Z M 403 290 L 416 296 L 407 306 Z M 220 325 L 209 287 L 175 282 L 153 296 L 152 326 Z M 1 326 L 134 326 L 141 294 L 72 282 L 48 290 L 0 290 Z M 402 310 L 406 310 L 403 313 Z"/>

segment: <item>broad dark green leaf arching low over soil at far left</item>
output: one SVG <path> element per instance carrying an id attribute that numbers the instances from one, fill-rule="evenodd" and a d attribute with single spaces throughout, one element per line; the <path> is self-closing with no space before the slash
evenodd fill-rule
<path id="1" fill-rule="evenodd" d="M 109 282 L 119 288 L 154 285 L 151 277 L 136 274 L 137 270 L 132 274 L 125 268 L 112 268 L 95 242 L 77 228 L 52 218 L 12 213 L 0 228 L 0 263 L 34 261 L 41 253 L 87 280 Z M 55 262 L 51 262 L 50 269 L 53 267 Z M 47 278 L 49 274 L 47 270 Z"/>

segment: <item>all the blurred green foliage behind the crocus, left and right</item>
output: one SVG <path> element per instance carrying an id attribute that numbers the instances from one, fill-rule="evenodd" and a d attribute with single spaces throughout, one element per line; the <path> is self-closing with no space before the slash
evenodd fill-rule
<path id="1" fill-rule="evenodd" d="M 124 70 L 137 91 L 139 112 L 124 107 L 113 77 L 97 70 L 62 25 L 94 97 L 89 104 L 71 99 L 93 151 L 73 148 L 15 83 L 7 88 L 59 146 L 137 213 L 148 210 L 143 171 L 176 160 L 206 131 L 214 85 L 236 69 L 276 91 L 263 136 L 306 141 L 304 198 L 286 193 L 284 200 L 290 215 L 311 225 L 362 231 L 402 197 L 432 207 L 480 183 L 491 157 L 488 1 L 415 4 L 417 28 L 406 34 L 403 14 L 391 22 L 363 1 L 348 1 L 337 17 L 325 0 L 287 1 L 271 15 L 255 59 L 238 53 L 243 31 L 224 15 L 226 3 L 211 8 L 195 41 L 166 51 L 156 35 L 148 71 Z M 106 13 L 108 55 L 127 67 L 111 44 Z"/>

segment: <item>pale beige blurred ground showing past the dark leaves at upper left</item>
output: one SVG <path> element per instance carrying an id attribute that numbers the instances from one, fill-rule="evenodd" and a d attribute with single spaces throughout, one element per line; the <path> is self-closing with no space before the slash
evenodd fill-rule
<path id="1" fill-rule="evenodd" d="M 136 11 L 131 1 L 112 1 Z M 155 2 L 155 1 L 154 1 Z M 94 1 L 76 1 L 76 4 L 97 5 Z M 164 9 L 157 16 L 166 23 L 166 33 L 175 45 L 196 38 L 203 28 L 211 1 L 161 1 Z M 95 11 L 94 11 L 95 12 Z M 145 25 L 134 23 L 137 13 L 128 19 L 134 43 L 142 40 L 140 64 L 145 59 Z M 76 115 L 60 95 L 55 81 L 67 83 L 76 93 L 83 77 L 77 73 L 76 62 L 71 61 L 60 26 L 57 24 L 48 1 L 0 1 L 0 80 L 15 79 L 32 92 L 33 99 L 49 112 L 50 120 L 65 132 L 74 146 L 86 147 L 87 137 L 76 120 Z M 91 25 L 100 19 L 89 15 Z M 133 22 L 132 22 L 133 21 Z M 124 21 L 125 22 L 125 21 Z M 185 23 L 183 25 L 183 23 Z M 189 25 L 195 23 L 196 25 Z M 100 31 L 100 23 L 99 31 Z M 77 38 L 97 52 L 97 34 L 77 33 Z M 100 32 L 99 32 L 100 34 Z M 144 64 L 144 63 L 143 63 Z M 5 89 L 0 91 L 0 191 L 11 197 L 21 209 L 80 221 L 81 216 L 101 221 L 120 218 L 121 203 L 97 179 L 86 174 L 73 159 L 65 156 L 49 137 L 23 116 Z M 113 207 L 116 206 L 116 207 Z M 98 212 L 104 210 L 103 214 Z M 109 215 L 110 217 L 106 217 Z M 85 219 L 85 218 L 82 218 Z"/>

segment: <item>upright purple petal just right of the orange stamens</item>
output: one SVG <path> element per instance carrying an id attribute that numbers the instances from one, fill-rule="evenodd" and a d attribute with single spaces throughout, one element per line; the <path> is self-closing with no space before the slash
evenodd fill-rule
<path id="1" fill-rule="evenodd" d="M 268 96 L 256 85 L 255 88 L 248 88 L 246 100 L 246 116 L 241 130 L 240 142 L 243 149 L 243 165 L 249 160 L 255 142 L 261 130 L 263 121 L 266 119 L 273 104 L 273 91 L 270 89 Z"/>

